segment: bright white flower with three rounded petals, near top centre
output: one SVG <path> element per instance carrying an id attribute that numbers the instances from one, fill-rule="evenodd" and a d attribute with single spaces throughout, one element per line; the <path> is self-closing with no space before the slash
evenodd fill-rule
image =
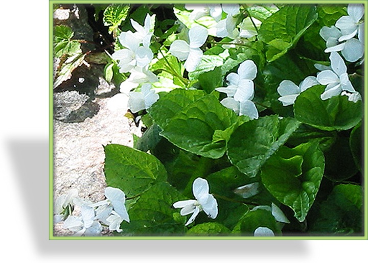
<path id="1" fill-rule="evenodd" d="M 186 60 L 184 67 L 188 72 L 198 66 L 203 52 L 199 49 L 208 37 L 208 30 L 202 26 L 194 26 L 189 30 L 189 44 L 184 40 L 172 42 L 169 52 L 179 60 Z"/>

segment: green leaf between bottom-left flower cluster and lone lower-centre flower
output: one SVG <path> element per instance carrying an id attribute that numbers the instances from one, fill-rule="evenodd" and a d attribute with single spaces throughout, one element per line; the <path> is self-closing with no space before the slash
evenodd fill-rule
<path id="1" fill-rule="evenodd" d="M 153 185 L 128 210 L 130 223 L 123 223 L 123 234 L 183 234 L 186 218 L 180 216 L 172 204 L 185 199 L 186 197 L 167 182 Z"/>

